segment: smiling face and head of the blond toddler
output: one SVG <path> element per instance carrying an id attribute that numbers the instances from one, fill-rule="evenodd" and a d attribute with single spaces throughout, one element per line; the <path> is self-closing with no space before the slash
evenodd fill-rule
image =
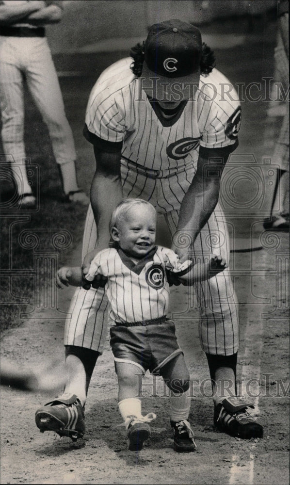
<path id="1" fill-rule="evenodd" d="M 121 249 L 135 258 L 143 258 L 155 244 L 156 215 L 154 209 L 133 206 L 113 229 L 113 239 Z"/>

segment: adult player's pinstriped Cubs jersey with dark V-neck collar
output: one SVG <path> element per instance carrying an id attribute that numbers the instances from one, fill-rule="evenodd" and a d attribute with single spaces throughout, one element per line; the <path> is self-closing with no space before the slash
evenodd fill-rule
<path id="1" fill-rule="evenodd" d="M 142 90 L 142 78 L 135 78 L 131 63 L 126 58 L 111 65 L 93 87 L 84 129 L 91 143 L 107 151 L 119 146 L 123 158 L 158 170 L 160 177 L 196 167 L 199 146 L 236 148 L 241 108 L 222 73 L 213 69 L 201 76 L 193 97 L 165 120 Z"/>

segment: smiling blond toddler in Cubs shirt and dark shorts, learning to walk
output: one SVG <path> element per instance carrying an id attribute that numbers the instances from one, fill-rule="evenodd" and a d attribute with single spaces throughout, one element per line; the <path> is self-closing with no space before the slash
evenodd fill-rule
<path id="1" fill-rule="evenodd" d="M 221 257 L 208 263 L 181 264 L 171 250 L 155 246 L 156 210 L 142 199 L 124 199 L 113 212 L 110 228 L 115 248 L 104 249 L 90 264 L 85 280 L 93 281 L 97 274 L 105 276 L 105 286 L 111 307 L 111 347 L 119 384 L 119 410 L 127 427 L 129 450 L 138 451 L 150 435 L 147 422 L 154 413 L 142 416 L 141 381 L 136 372 L 146 370 L 162 375 L 171 395 L 171 426 L 177 452 L 195 449 L 194 435 L 188 422 L 190 411 L 189 372 L 175 336 L 174 323 L 166 319 L 169 284 L 166 272 L 189 284 L 218 274 L 226 267 Z M 85 282 L 80 268 L 61 268 L 58 286 L 63 283 L 81 286 Z M 136 369 L 137 367 L 137 369 Z M 177 385 L 178 391 L 177 392 Z M 137 392 L 137 394 L 136 394 Z M 40 429 L 55 420 L 49 407 L 36 413 Z M 56 423 L 57 424 L 57 423 Z M 63 425 L 60 425 L 63 433 Z"/>

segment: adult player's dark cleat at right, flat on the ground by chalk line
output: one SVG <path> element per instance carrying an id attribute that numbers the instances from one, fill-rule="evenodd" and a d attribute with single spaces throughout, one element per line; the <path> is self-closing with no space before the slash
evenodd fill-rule
<path id="1" fill-rule="evenodd" d="M 230 436 L 242 439 L 262 438 L 263 427 L 247 412 L 253 408 L 239 397 L 229 397 L 214 408 L 214 426 Z"/>

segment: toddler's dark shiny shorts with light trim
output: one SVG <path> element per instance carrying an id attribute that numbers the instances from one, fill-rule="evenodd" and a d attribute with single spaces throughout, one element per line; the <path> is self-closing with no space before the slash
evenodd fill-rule
<path id="1" fill-rule="evenodd" d="M 161 323 L 156 323 L 158 321 Z M 172 320 L 164 318 L 134 326 L 125 325 L 117 324 L 110 328 L 115 362 L 128 362 L 141 368 L 144 374 L 149 370 L 159 375 L 161 367 L 178 354 L 183 354 Z"/>

